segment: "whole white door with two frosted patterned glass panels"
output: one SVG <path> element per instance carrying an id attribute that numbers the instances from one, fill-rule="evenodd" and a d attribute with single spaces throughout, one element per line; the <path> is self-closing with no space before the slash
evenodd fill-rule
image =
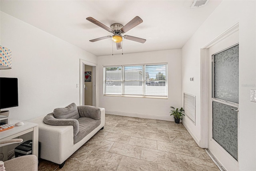
<path id="1" fill-rule="evenodd" d="M 238 171 L 238 32 L 209 48 L 208 148 L 227 171 Z"/>

